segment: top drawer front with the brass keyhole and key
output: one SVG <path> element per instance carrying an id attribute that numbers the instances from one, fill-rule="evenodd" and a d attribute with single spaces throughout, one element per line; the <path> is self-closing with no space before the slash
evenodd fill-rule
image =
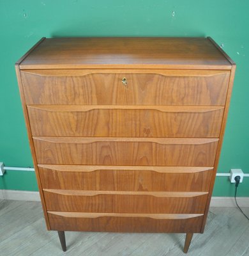
<path id="1" fill-rule="evenodd" d="M 21 71 L 26 104 L 224 106 L 229 75 L 226 70 Z"/>

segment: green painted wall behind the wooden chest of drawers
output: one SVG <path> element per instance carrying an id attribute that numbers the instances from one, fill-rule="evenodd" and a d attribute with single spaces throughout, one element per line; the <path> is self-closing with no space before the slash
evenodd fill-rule
<path id="1" fill-rule="evenodd" d="M 33 165 L 14 63 L 42 36 L 212 36 L 237 63 L 218 172 L 249 172 L 248 10 L 248 0 L 1 0 L 0 161 Z M 249 196 L 248 185 L 239 196 Z M 37 190 L 34 173 L 6 172 L 0 189 Z M 233 193 L 227 177 L 216 179 L 215 196 Z"/>

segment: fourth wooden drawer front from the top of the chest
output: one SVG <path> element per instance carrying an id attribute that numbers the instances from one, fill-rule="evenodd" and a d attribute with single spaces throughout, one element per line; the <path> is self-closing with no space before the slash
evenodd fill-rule
<path id="1" fill-rule="evenodd" d="M 211 167 L 38 164 L 43 189 L 209 191 Z"/>

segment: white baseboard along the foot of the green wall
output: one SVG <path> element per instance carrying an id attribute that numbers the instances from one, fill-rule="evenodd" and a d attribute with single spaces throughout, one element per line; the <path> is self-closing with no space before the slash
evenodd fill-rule
<path id="1" fill-rule="evenodd" d="M 0 189 L 0 199 L 36 201 L 39 202 L 40 195 L 36 191 L 20 191 Z M 241 207 L 249 207 L 249 197 L 238 197 L 238 204 Z M 210 207 L 236 207 L 234 197 L 212 196 Z"/>

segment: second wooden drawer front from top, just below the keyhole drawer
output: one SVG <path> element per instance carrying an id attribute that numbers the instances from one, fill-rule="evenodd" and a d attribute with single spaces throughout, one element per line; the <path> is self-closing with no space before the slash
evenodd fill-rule
<path id="1" fill-rule="evenodd" d="M 223 107 L 59 106 L 27 107 L 34 136 L 217 138 Z"/>

